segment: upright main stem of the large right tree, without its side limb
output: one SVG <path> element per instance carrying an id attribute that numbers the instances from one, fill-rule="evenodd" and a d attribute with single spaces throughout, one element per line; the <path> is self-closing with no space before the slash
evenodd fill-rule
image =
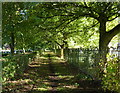
<path id="1" fill-rule="evenodd" d="M 104 18 L 100 18 L 100 27 L 99 27 L 99 62 L 100 65 L 100 74 L 99 77 L 101 78 L 103 76 L 104 71 L 106 70 L 106 63 L 107 63 L 107 53 L 108 53 L 108 40 L 106 35 L 106 21 L 104 21 Z"/>

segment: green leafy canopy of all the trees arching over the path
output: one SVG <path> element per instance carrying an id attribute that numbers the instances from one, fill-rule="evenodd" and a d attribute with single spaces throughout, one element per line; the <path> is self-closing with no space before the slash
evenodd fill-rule
<path id="1" fill-rule="evenodd" d="M 11 49 L 42 48 L 48 43 L 65 48 L 71 40 L 87 45 L 96 35 L 99 43 L 95 46 L 106 50 L 120 32 L 120 24 L 113 23 L 119 17 L 118 11 L 117 2 L 6 2 L 3 43 L 10 44 Z"/>

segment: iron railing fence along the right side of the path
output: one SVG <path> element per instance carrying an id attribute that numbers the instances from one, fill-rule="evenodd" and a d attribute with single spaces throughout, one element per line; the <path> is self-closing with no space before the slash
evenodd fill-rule
<path id="1" fill-rule="evenodd" d="M 112 58 L 119 56 L 119 51 L 117 49 L 109 49 L 109 54 L 113 55 Z M 60 49 L 56 50 L 56 53 L 60 55 Z M 103 53 L 103 51 L 102 51 Z M 100 52 L 98 48 L 83 49 L 83 48 L 73 48 L 64 50 L 65 60 L 78 68 L 80 71 L 87 73 L 94 79 L 99 78 L 99 63 L 100 63 Z"/>

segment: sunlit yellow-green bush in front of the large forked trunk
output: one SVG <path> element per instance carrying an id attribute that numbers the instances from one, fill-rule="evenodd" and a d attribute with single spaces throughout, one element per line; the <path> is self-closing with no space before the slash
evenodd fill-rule
<path id="1" fill-rule="evenodd" d="M 110 59 L 103 77 L 103 88 L 106 90 L 120 91 L 120 63 L 118 58 Z"/>

